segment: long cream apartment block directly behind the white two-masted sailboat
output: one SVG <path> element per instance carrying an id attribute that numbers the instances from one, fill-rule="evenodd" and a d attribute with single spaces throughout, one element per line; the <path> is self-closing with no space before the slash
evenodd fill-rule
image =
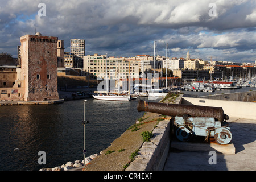
<path id="1" fill-rule="evenodd" d="M 87 77 L 121 79 L 138 78 L 139 65 L 137 61 L 125 60 L 123 57 L 107 57 L 106 55 L 84 56 L 84 72 Z"/>

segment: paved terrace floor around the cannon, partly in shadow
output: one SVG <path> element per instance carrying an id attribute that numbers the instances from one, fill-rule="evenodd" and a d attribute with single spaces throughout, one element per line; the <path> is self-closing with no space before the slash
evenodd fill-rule
<path id="1" fill-rule="evenodd" d="M 209 152 L 177 151 L 168 154 L 164 171 L 254 171 L 256 170 L 256 119 L 230 118 L 236 154 L 217 153 L 217 164 L 209 164 Z M 211 159 L 210 159 L 211 160 Z"/>

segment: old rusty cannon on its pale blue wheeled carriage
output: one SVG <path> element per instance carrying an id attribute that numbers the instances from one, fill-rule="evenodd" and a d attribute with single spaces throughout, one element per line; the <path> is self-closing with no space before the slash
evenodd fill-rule
<path id="1" fill-rule="evenodd" d="M 193 136 L 204 136 L 205 140 L 214 137 L 218 144 L 228 144 L 232 133 L 222 107 L 209 107 L 183 104 L 166 104 L 139 100 L 138 111 L 168 115 L 174 118 L 175 135 L 181 142 Z"/>

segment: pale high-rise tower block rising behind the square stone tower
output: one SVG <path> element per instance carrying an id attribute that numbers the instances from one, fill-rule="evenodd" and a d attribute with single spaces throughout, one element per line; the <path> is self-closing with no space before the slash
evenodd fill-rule
<path id="1" fill-rule="evenodd" d="M 84 59 L 85 56 L 85 40 L 84 39 L 71 39 L 70 40 L 70 53 L 76 57 Z"/>

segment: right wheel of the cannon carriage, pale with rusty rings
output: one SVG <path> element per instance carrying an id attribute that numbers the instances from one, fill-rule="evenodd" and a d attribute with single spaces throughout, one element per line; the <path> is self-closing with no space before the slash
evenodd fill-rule
<path id="1" fill-rule="evenodd" d="M 214 131 L 214 138 L 218 144 L 228 144 L 232 140 L 232 133 L 225 127 L 220 127 Z"/>

